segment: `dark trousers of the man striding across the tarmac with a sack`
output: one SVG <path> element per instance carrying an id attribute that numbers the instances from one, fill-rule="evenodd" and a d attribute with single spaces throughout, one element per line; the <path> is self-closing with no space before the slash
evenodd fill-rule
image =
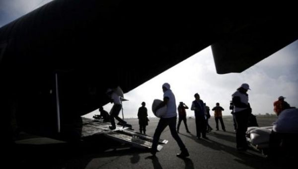
<path id="1" fill-rule="evenodd" d="M 180 139 L 177 131 L 176 131 L 176 121 L 177 117 L 171 117 L 171 118 L 160 118 L 157 127 L 155 129 L 154 135 L 153 135 L 153 141 L 152 141 L 152 150 L 157 150 L 157 144 L 159 137 L 162 133 L 162 131 L 166 128 L 166 126 L 169 126 L 172 137 L 176 140 L 178 143 L 178 146 L 180 147 L 180 150 L 185 150 L 185 145 L 183 144 L 182 140 Z"/>

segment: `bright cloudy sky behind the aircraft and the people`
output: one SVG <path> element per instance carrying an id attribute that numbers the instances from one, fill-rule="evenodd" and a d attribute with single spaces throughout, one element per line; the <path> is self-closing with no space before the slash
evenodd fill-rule
<path id="1" fill-rule="evenodd" d="M 49 1 L 52 0 L 0 0 L 0 27 Z M 183 101 L 190 107 L 198 92 L 211 108 L 219 102 L 225 109 L 224 115 L 230 115 L 231 94 L 242 83 L 250 85 L 248 94 L 253 114 L 273 113 L 273 102 L 280 95 L 285 96 L 291 106 L 298 107 L 298 40 L 239 74 L 218 75 L 211 47 L 208 47 L 125 93 L 129 101 L 123 102 L 124 117 L 136 117 L 142 101 L 153 117 L 152 101 L 162 99 L 161 85 L 165 82 L 171 85 L 177 104 Z M 109 111 L 111 106 L 107 104 L 104 109 Z M 98 113 L 96 110 L 85 117 L 92 118 Z M 193 116 L 194 112 L 187 110 L 187 115 Z"/>

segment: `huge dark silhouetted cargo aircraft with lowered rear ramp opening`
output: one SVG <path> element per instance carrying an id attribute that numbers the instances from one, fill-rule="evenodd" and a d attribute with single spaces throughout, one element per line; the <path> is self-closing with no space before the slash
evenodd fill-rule
<path id="1" fill-rule="evenodd" d="M 80 116 L 109 102 L 107 88 L 126 93 L 210 45 L 218 74 L 240 73 L 298 39 L 289 11 L 51 1 L 0 28 L 3 132 L 13 135 L 15 121 L 73 138 Z"/>

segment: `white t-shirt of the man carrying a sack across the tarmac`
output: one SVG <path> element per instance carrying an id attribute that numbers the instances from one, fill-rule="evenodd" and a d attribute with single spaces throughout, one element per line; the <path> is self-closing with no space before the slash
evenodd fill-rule
<path id="1" fill-rule="evenodd" d="M 176 107 L 176 99 L 175 99 L 175 95 L 173 94 L 173 92 L 171 90 L 166 90 L 163 93 L 163 97 L 168 97 L 169 101 L 166 104 L 166 113 L 165 115 L 162 116 L 162 118 L 170 118 L 170 117 L 175 117 L 177 116 L 177 107 Z"/>

